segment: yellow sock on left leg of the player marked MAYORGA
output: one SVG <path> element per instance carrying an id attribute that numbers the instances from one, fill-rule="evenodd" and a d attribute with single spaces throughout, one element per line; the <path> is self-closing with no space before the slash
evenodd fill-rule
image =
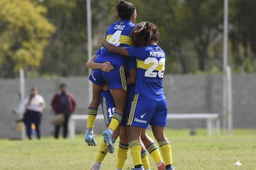
<path id="1" fill-rule="evenodd" d="M 140 141 L 134 140 L 129 142 L 129 147 L 131 150 L 131 157 L 132 157 L 134 166 L 141 165 L 142 161 L 141 161 L 141 153 L 140 153 L 141 152 Z"/>

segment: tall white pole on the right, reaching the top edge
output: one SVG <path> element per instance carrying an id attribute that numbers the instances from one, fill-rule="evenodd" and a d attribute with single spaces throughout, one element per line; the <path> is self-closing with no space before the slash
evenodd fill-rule
<path id="1" fill-rule="evenodd" d="M 227 130 L 227 35 L 228 35 L 228 0 L 224 0 L 224 31 L 223 31 L 223 130 Z"/>

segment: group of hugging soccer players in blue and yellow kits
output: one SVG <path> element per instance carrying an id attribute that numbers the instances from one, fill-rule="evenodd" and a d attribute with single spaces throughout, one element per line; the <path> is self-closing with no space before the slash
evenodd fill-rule
<path id="1" fill-rule="evenodd" d="M 114 152 L 117 137 L 116 170 L 124 168 L 128 149 L 134 170 L 150 170 L 148 153 L 158 170 L 174 170 L 171 145 L 164 133 L 167 104 L 162 82 L 166 56 L 157 45 L 157 26 L 149 22 L 134 24 L 136 8 L 125 0 L 119 0 L 116 10 L 120 20 L 109 26 L 102 48 L 87 62 L 87 67 L 93 69 L 89 77 L 93 99 L 87 110 L 85 142 L 96 146 L 93 125 L 100 104 L 108 127 L 90 170 L 101 169 L 107 153 Z M 162 156 L 146 134 L 149 124 Z"/>

